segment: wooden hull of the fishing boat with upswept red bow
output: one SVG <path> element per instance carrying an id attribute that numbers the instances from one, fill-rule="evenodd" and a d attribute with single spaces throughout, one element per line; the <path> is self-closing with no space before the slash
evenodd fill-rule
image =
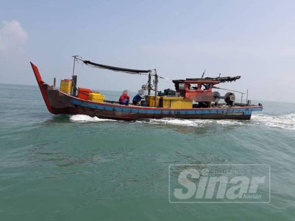
<path id="1" fill-rule="evenodd" d="M 37 66 L 31 63 L 41 94 L 49 112 L 53 114 L 85 114 L 116 120 L 140 120 L 147 118 L 184 119 L 238 119 L 249 120 L 252 111 L 262 111 L 262 106 L 231 108 L 166 109 L 96 103 L 65 94 L 44 83 Z"/>

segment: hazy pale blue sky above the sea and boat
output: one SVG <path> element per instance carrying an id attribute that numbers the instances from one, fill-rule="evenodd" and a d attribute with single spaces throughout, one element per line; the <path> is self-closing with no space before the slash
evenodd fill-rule
<path id="1" fill-rule="evenodd" d="M 295 102 L 294 0 L 0 0 L 0 83 L 70 78 L 72 55 L 167 79 L 237 76 L 220 87 Z M 146 76 L 77 64 L 78 86 L 137 91 Z M 173 88 L 160 80 L 159 89 Z M 226 91 L 221 91 L 224 94 Z M 236 95 L 238 96 L 238 95 Z"/>

